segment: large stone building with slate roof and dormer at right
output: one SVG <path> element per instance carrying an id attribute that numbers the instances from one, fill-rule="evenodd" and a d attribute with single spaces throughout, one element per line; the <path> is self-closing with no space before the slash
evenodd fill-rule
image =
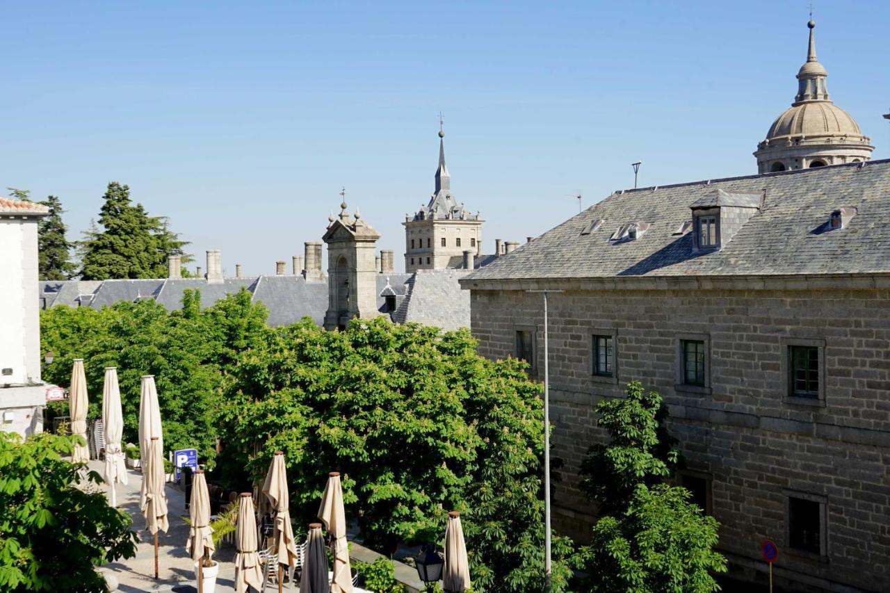
<path id="1" fill-rule="evenodd" d="M 619 191 L 461 280 L 490 358 L 541 378 L 549 297 L 558 525 L 595 405 L 661 393 L 688 470 L 753 578 L 780 549 L 793 590 L 890 590 L 890 161 Z"/>

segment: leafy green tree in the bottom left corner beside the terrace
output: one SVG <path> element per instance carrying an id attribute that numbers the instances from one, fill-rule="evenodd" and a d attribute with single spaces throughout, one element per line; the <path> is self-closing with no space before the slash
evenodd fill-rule
<path id="1" fill-rule="evenodd" d="M 83 441 L 81 439 L 81 441 Z M 130 517 L 105 494 L 78 484 L 74 441 L 0 431 L 0 589 L 105 591 L 94 566 L 135 556 Z M 88 484 L 101 483 L 96 472 Z"/>

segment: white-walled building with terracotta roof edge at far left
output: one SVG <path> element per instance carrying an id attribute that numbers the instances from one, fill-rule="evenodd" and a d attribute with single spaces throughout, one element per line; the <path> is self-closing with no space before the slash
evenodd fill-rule
<path id="1" fill-rule="evenodd" d="M 43 431 L 46 386 L 40 378 L 37 223 L 49 209 L 0 198 L 0 430 Z"/>

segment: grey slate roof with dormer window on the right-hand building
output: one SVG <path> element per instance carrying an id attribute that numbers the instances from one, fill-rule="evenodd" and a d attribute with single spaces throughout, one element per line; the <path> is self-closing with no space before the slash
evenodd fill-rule
<path id="1" fill-rule="evenodd" d="M 674 233 L 692 220 L 692 204 L 715 199 L 716 190 L 765 191 L 764 208 L 719 250 L 693 253 L 692 232 Z M 824 232 L 839 207 L 857 214 Z M 636 240 L 609 240 L 634 222 L 651 226 Z M 467 280 L 869 272 L 890 272 L 890 160 L 614 193 Z"/>

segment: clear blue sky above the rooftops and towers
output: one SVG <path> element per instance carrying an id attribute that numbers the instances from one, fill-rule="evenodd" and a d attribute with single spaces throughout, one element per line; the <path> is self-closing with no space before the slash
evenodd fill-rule
<path id="1" fill-rule="evenodd" d="M 452 189 L 485 251 L 633 185 L 756 173 L 794 98 L 806 2 L 6 3 L 0 187 L 61 197 L 72 238 L 109 181 L 203 265 L 274 273 L 347 201 L 401 268 L 406 212 Z M 829 92 L 890 158 L 890 4 L 816 6 Z"/>

